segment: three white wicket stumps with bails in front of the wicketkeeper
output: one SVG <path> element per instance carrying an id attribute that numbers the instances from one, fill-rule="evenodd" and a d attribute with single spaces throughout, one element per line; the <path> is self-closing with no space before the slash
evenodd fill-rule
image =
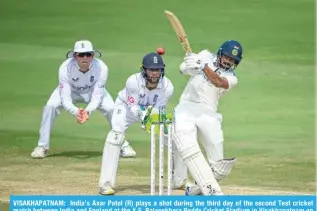
<path id="1" fill-rule="evenodd" d="M 164 127 L 167 125 L 167 195 L 172 194 L 172 122 L 153 122 L 151 125 L 151 195 L 156 186 L 156 127 L 159 126 L 159 195 L 164 194 Z"/>

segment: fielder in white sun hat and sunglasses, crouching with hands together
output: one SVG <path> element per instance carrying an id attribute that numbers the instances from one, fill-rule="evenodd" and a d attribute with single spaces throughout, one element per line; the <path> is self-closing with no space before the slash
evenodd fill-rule
<path id="1" fill-rule="evenodd" d="M 44 106 L 38 146 L 31 153 L 33 158 L 48 155 L 51 129 L 62 107 L 74 115 L 80 124 L 85 123 L 96 109 L 110 122 L 114 102 L 105 89 L 108 67 L 102 60 L 95 58 L 96 53 L 101 55 L 93 49 L 90 41 L 77 41 L 74 50 L 67 54 L 70 58 L 59 67 L 59 86 Z M 78 108 L 74 105 L 76 102 L 86 103 L 87 107 Z M 121 149 L 121 155 L 124 153 L 135 156 L 127 141 Z"/>

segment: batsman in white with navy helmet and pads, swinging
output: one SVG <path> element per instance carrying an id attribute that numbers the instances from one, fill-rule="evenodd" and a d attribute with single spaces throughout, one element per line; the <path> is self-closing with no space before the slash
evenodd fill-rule
<path id="1" fill-rule="evenodd" d="M 180 65 L 181 73 L 191 77 L 174 110 L 174 144 L 196 181 L 186 188 L 186 195 L 223 195 L 218 181 L 231 172 L 236 159 L 223 157 L 222 115 L 217 107 L 221 96 L 237 85 L 234 69 L 241 59 L 240 43 L 228 40 L 216 54 L 192 53 Z"/>

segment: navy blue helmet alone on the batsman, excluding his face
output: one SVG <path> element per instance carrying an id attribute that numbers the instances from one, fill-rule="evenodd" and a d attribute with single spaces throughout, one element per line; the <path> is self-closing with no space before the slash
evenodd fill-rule
<path id="1" fill-rule="evenodd" d="M 242 60 L 242 46 L 236 40 L 225 41 L 218 49 L 217 56 L 219 59 L 225 55 L 234 59 L 235 66 L 238 66 Z"/>

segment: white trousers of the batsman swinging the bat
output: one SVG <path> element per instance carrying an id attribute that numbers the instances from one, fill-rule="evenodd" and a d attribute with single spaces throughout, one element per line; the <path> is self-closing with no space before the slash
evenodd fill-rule
<path id="1" fill-rule="evenodd" d="M 184 144 L 200 143 L 209 163 L 223 159 L 221 114 L 201 104 L 182 102 L 176 106 L 174 118 L 175 131 L 186 134 Z"/>

